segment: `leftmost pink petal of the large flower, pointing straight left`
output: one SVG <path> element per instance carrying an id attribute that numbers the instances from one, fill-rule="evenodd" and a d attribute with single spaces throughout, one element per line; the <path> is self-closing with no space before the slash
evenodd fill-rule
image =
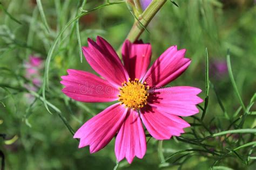
<path id="1" fill-rule="evenodd" d="M 62 76 L 63 93 L 80 102 L 111 102 L 118 99 L 119 90 L 106 80 L 81 70 L 68 69 Z"/>

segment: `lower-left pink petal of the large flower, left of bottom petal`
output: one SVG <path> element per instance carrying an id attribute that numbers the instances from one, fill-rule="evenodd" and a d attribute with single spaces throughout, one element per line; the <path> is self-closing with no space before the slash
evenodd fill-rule
<path id="1" fill-rule="evenodd" d="M 126 112 L 116 103 L 87 121 L 74 135 L 80 138 L 79 148 L 90 145 L 90 153 L 94 153 L 105 147 L 123 124 Z"/>

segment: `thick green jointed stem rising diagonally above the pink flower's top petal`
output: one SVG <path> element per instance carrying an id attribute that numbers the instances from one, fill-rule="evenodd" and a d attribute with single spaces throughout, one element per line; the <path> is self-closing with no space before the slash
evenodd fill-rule
<path id="1" fill-rule="evenodd" d="M 144 31 L 144 28 L 140 25 L 140 23 L 146 27 L 165 2 L 166 0 L 153 0 L 150 5 L 147 6 L 147 9 L 142 13 L 142 15 L 139 16 L 139 21 L 137 20 L 134 22 L 126 39 L 130 40 L 131 42 L 136 41 Z"/>

